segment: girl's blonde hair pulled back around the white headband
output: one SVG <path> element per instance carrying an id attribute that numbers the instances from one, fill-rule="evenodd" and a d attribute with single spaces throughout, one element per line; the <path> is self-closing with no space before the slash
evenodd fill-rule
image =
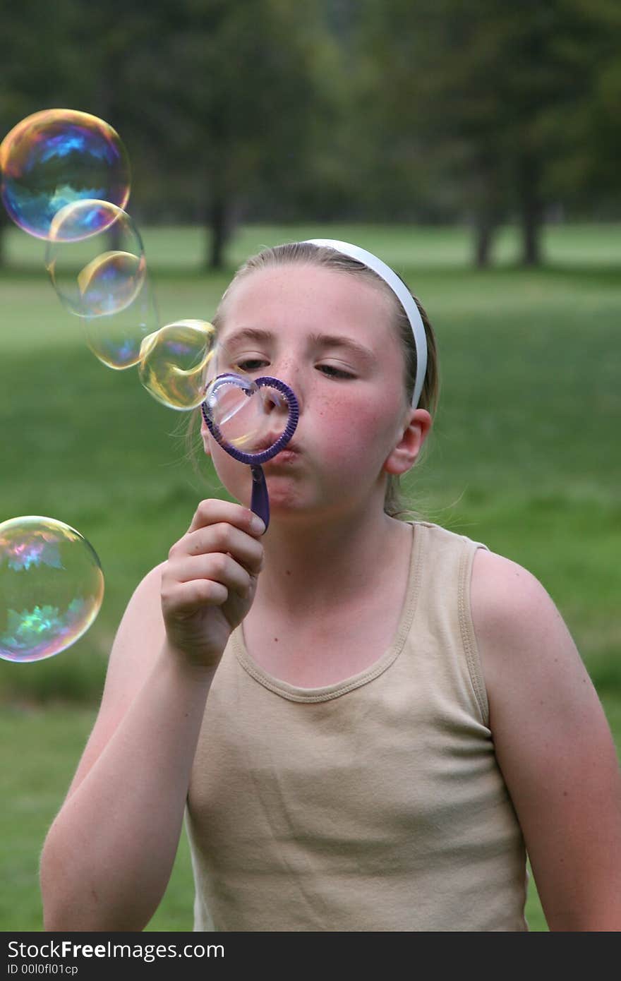
<path id="1" fill-rule="evenodd" d="M 384 280 L 377 275 L 377 273 L 374 273 L 373 270 L 369 269 L 369 267 L 365 266 L 362 262 L 358 262 L 357 259 L 352 259 L 349 256 L 343 255 L 342 252 L 337 252 L 334 248 L 324 245 L 314 245 L 311 242 L 290 242 L 285 245 L 276 245 L 272 248 L 265 248 L 256 255 L 250 256 L 250 258 L 239 267 L 220 301 L 216 315 L 213 318 L 213 324 L 216 328 L 216 335 L 218 334 L 218 331 L 223 323 L 224 304 L 227 297 L 233 290 L 234 285 L 240 279 L 243 279 L 250 273 L 256 272 L 257 270 L 268 269 L 272 266 L 285 266 L 296 263 L 304 265 L 310 264 L 320 266 L 325 269 L 335 269 L 349 275 L 362 276 L 376 286 L 379 286 L 389 297 L 394 316 L 394 326 L 403 349 L 403 384 L 405 387 L 407 400 L 410 402 L 416 382 L 417 361 L 416 344 L 414 342 L 412 327 L 408 320 L 407 314 L 388 284 L 386 284 Z M 436 337 L 429 322 L 429 318 L 421 303 L 417 297 L 414 296 L 414 294 L 412 294 L 412 298 L 418 307 L 423 325 L 425 327 L 425 335 L 427 337 L 427 371 L 425 373 L 425 380 L 423 382 L 418 408 L 427 409 L 427 411 L 434 416 L 438 408 L 438 400 L 440 397 L 440 372 Z M 388 474 L 387 489 L 384 498 L 384 510 L 388 515 L 390 515 L 390 517 L 393 518 L 408 512 L 411 513 L 411 509 L 405 505 L 405 502 L 402 499 L 399 487 L 399 478 L 392 474 Z"/>

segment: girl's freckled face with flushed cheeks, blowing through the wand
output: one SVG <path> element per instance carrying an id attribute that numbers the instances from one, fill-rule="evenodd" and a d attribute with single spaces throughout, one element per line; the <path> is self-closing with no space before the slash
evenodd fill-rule
<path id="1" fill-rule="evenodd" d="M 273 519 L 329 517 L 376 501 L 386 474 L 413 464 L 431 419 L 408 405 L 390 298 L 360 277 L 312 265 L 268 267 L 235 284 L 222 311 L 218 372 L 272 375 L 300 416 L 291 442 L 263 465 Z M 225 487 L 249 504 L 251 480 L 203 427 Z"/>

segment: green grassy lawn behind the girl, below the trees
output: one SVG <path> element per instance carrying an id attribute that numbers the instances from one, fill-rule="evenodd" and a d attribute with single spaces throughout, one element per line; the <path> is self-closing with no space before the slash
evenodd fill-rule
<path id="1" fill-rule="evenodd" d="M 394 264 L 422 299 L 440 347 L 440 412 L 407 490 L 426 517 L 525 565 L 567 622 L 621 736 L 621 235 L 546 233 L 546 265 L 468 267 L 465 230 L 248 228 L 232 264 L 262 244 L 323 233 Z M 162 323 L 209 319 L 231 270 L 200 272 L 196 230 L 147 230 Z M 104 603 L 71 650 L 33 665 L 0 662 L 0 930 L 39 930 L 37 855 L 92 724 L 122 611 L 145 572 L 185 531 L 197 500 L 223 492 L 187 459 L 187 417 L 156 403 L 136 369 L 114 372 L 84 344 L 46 280 L 43 245 L 8 236 L 0 273 L 0 520 L 50 515 L 97 550 Z M 62 701 L 62 705 L 58 702 Z M 45 707 L 41 708 L 41 705 Z M 151 927 L 191 927 L 184 841 Z M 533 929 L 545 929 L 537 897 Z"/>

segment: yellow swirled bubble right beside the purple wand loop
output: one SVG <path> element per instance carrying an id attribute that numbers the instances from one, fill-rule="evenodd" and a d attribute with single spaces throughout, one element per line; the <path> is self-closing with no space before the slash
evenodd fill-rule
<path id="1" fill-rule="evenodd" d="M 171 409 L 194 409 L 205 397 L 215 328 L 204 320 L 178 320 L 145 337 L 140 347 L 142 385 Z"/>

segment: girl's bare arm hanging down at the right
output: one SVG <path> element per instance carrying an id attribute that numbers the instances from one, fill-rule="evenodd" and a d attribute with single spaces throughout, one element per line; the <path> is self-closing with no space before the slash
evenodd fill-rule
<path id="1" fill-rule="evenodd" d="M 550 930 L 621 930 L 621 778 L 599 699 L 529 572 L 477 551 L 472 616 L 496 758 Z"/>

